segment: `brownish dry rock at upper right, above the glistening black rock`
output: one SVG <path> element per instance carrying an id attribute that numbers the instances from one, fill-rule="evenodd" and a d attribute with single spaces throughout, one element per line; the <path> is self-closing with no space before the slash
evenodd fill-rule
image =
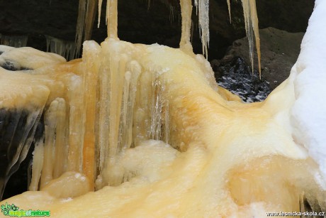
<path id="1" fill-rule="evenodd" d="M 259 31 L 262 55 L 262 76 L 275 89 L 288 75 L 296 63 L 300 53 L 300 43 L 303 33 L 288 33 L 276 28 L 265 28 Z M 225 57 L 244 58 L 250 64 L 249 45 L 247 38 L 235 40 L 228 48 Z M 258 70 L 257 52 L 254 53 L 254 68 Z"/>

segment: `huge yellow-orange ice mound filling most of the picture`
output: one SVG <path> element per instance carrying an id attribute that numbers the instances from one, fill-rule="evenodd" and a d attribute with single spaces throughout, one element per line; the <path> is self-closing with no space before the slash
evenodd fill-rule
<path id="1" fill-rule="evenodd" d="M 30 192 L 0 205 L 51 217 L 265 217 L 299 211 L 308 193 L 325 207 L 317 165 L 291 135 L 294 75 L 259 103 L 218 87 L 192 53 L 190 4 L 180 49 L 118 40 L 114 0 L 108 38 L 86 41 L 81 60 L 6 48 L 0 58 L 33 70 L 0 69 L 0 107 L 44 109 L 45 133 Z"/>

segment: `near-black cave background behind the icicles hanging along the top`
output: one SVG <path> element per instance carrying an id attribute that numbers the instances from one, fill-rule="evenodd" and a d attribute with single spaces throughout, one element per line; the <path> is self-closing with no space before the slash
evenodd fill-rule
<path id="1" fill-rule="evenodd" d="M 210 0 L 208 58 L 223 58 L 227 47 L 234 40 L 245 36 L 241 1 L 231 3 L 232 23 L 229 22 L 226 1 Z M 0 0 L 0 33 L 26 35 L 28 46 L 38 50 L 46 50 L 45 35 L 74 40 L 78 4 L 78 0 Z M 174 6 L 174 10 L 170 11 L 167 4 Z M 273 26 L 289 32 L 303 32 L 313 5 L 313 0 L 259 0 L 259 27 Z M 106 38 L 105 6 L 104 1 L 100 28 L 94 25 L 92 39 L 98 43 Z M 176 48 L 181 36 L 180 21 L 177 0 L 152 0 L 149 8 L 143 0 L 118 1 L 118 36 L 121 40 L 159 43 Z M 196 10 L 193 10 L 193 21 L 193 49 L 195 53 L 201 53 Z"/>

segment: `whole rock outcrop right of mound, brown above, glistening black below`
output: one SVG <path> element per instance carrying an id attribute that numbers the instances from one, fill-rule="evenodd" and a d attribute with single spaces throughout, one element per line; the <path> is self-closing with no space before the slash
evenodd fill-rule
<path id="1" fill-rule="evenodd" d="M 257 52 L 252 74 L 247 38 L 235 40 L 221 60 L 210 61 L 218 84 L 245 102 L 266 99 L 271 90 L 288 78 L 300 53 L 304 33 L 288 33 L 276 28 L 259 30 L 262 80 L 259 80 Z"/>

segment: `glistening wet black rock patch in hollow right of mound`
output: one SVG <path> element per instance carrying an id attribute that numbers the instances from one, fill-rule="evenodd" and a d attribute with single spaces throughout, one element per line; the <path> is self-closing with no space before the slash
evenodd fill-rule
<path id="1" fill-rule="evenodd" d="M 271 93 L 268 82 L 259 79 L 257 70 L 253 73 L 245 60 L 240 57 L 225 58 L 221 62 L 212 62 L 216 82 L 244 102 L 262 102 Z"/>

